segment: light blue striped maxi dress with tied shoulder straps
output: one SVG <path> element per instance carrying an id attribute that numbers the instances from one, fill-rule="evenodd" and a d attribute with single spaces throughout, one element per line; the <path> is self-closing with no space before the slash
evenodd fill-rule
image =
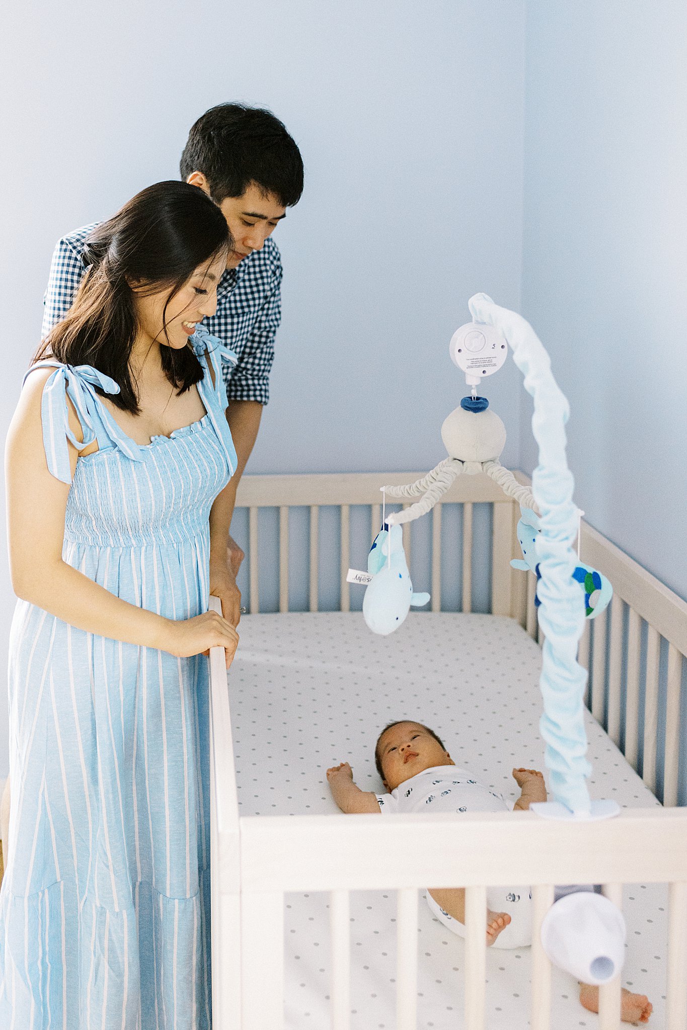
<path id="1" fill-rule="evenodd" d="M 54 476 L 71 479 L 65 394 L 99 445 L 76 462 L 64 560 L 169 619 L 208 609 L 208 518 L 236 469 L 220 369 L 233 355 L 207 333 L 192 342 L 206 414 L 145 447 L 95 389 L 118 386 L 90 366 L 49 363 L 42 398 Z M 18 603 L 2 1030 L 209 1030 L 208 722 L 204 656 L 97 637 Z"/>

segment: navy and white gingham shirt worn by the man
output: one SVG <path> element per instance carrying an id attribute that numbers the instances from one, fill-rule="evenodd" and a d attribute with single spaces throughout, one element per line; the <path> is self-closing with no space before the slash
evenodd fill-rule
<path id="1" fill-rule="evenodd" d="M 63 238 L 55 248 L 45 291 L 44 339 L 71 307 L 85 268 L 83 242 L 94 229 L 84 226 Z M 274 337 L 281 319 L 281 258 L 272 239 L 262 250 L 244 258 L 238 268 L 227 269 L 217 284 L 217 311 L 203 325 L 218 337 L 238 358 L 236 367 L 222 365 L 230 401 L 270 399 L 270 369 Z"/>

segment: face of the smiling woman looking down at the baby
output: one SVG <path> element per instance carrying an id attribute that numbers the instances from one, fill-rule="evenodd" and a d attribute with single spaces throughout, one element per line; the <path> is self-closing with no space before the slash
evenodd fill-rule
<path id="1" fill-rule="evenodd" d="M 134 286 L 139 340 L 143 337 L 140 342 L 159 343 L 174 350 L 185 347 L 196 332 L 196 323 L 215 313 L 217 283 L 226 267 L 227 253 L 222 250 L 218 256 L 199 265 L 169 304 L 168 286 L 154 294 L 146 293 L 144 287 L 139 291 Z"/>

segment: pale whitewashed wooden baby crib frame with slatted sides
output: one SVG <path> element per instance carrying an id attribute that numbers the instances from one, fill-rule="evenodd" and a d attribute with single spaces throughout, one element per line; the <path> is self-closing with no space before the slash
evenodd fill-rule
<path id="1" fill-rule="evenodd" d="M 521 482 L 525 477 L 516 474 Z M 279 511 L 279 611 L 288 611 L 289 509 L 309 508 L 309 608 L 318 610 L 318 524 L 324 506 L 340 509 L 340 609 L 349 611 L 346 573 L 353 506 L 380 522 L 381 483 L 417 474 L 248 476 L 237 506 L 248 509 L 251 613 L 259 603 L 259 509 Z M 461 476 L 432 513 L 431 590 L 441 608 L 442 508 L 462 506 L 459 593 L 470 611 L 475 505 L 491 506 L 491 613 L 515 619 L 538 636 L 533 575 L 514 572 L 518 507 L 485 476 Z M 404 526 L 410 549 L 410 527 Z M 481 542 L 475 540 L 477 546 Z M 232 674 L 221 652 L 211 664 L 212 998 L 215 1030 L 277 1030 L 283 1025 L 284 894 L 331 892 L 331 1026 L 349 1027 L 349 892 L 398 892 L 397 1030 L 416 1027 L 418 889 L 453 885 L 456 856 L 467 888 L 466 1030 L 485 1026 L 484 909 L 486 887 L 533 885 L 530 1026 L 551 1024 L 551 967 L 538 928 L 553 900 L 553 884 L 600 883 L 621 902 L 623 884 L 668 884 L 667 1030 L 687 1027 L 687 811 L 675 808 L 679 786 L 680 698 L 687 654 L 687 605 L 587 525 L 583 558 L 614 586 L 610 610 L 587 623 L 580 661 L 589 667 L 588 706 L 650 790 L 662 788 L 663 809 L 625 811 L 611 821 L 555 823 L 534 814 L 463 816 L 239 817 L 230 711 Z M 419 587 L 418 587 L 419 588 Z M 249 616 L 247 617 L 249 618 Z M 420 616 L 418 616 L 420 618 Z M 646 625 L 645 625 L 646 624 Z M 229 689 L 228 689 L 229 682 Z M 662 698 L 662 699 L 661 699 Z M 642 739 L 640 726 L 643 724 Z M 659 727 L 664 732 L 659 733 Z M 418 835 L 421 847 L 416 843 Z M 369 856 L 374 855 L 371 863 Z M 620 978 L 602 988 L 599 1026 L 620 1026 Z M 318 1027 L 317 1030 L 320 1030 Z M 322 1028 L 323 1030 L 323 1028 Z"/>

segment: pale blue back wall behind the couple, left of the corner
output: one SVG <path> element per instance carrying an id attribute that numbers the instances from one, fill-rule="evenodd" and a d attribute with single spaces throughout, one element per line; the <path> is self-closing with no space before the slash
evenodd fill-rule
<path id="1" fill-rule="evenodd" d="M 4 29 L 2 438 L 55 241 L 176 177 L 193 121 L 238 99 L 283 118 L 307 170 L 275 236 L 284 315 L 249 471 L 444 456 L 441 422 L 465 391 L 448 340 L 466 302 L 486 289 L 519 305 L 522 0 L 26 0 Z M 514 368 L 489 388 L 510 465 L 520 396 Z M 3 554 L 0 667 L 12 608 Z M 3 700 L 0 776 L 6 736 Z"/>

